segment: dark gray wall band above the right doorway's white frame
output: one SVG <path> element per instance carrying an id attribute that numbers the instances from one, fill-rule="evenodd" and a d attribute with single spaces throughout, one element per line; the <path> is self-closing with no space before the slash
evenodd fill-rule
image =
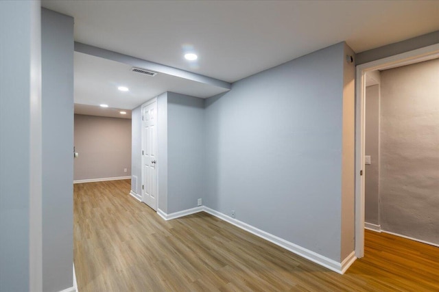
<path id="1" fill-rule="evenodd" d="M 387 46 L 371 49 L 361 53 L 357 53 L 356 65 L 375 61 L 376 59 L 383 59 L 392 55 L 398 55 L 408 51 L 413 51 L 423 47 L 431 46 L 432 44 L 439 44 L 439 31 L 434 31 L 423 36 L 410 38 L 401 42 L 394 42 Z"/>

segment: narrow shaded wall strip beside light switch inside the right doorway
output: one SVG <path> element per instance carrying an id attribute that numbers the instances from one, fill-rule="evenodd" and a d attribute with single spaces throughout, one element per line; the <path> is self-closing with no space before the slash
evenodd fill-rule
<path id="1" fill-rule="evenodd" d="M 365 165 L 364 219 L 379 225 L 379 85 L 366 88 L 366 155 L 370 165 Z"/>

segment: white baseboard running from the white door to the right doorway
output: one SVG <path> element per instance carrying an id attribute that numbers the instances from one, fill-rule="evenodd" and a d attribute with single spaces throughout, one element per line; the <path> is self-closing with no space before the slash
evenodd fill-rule
<path id="1" fill-rule="evenodd" d="M 261 237 L 262 239 L 268 240 L 281 248 L 285 248 L 285 250 L 289 250 L 290 252 L 293 252 L 294 254 L 298 254 L 299 256 L 302 256 L 303 258 L 307 258 L 309 261 L 312 261 L 313 263 L 317 263 L 318 265 L 322 265 L 323 267 L 327 267 L 328 269 L 331 269 L 332 271 L 337 272 L 338 274 L 344 274 L 344 272 L 350 267 L 353 262 L 357 259 L 355 256 L 355 252 L 351 252 L 343 261 L 342 263 L 337 263 L 337 261 L 334 261 L 331 258 L 327 258 L 326 256 L 322 256 L 321 254 L 318 254 L 316 252 L 313 252 L 311 250 L 308 250 L 307 248 L 302 248 L 300 245 L 296 245 L 292 242 L 286 241 L 285 239 L 281 239 L 281 237 L 277 237 L 276 235 L 272 235 L 270 233 L 267 233 L 259 228 L 256 228 L 254 226 L 251 226 L 250 224 L 246 224 L 244 222 L 241 222 L 235 218 L 229 217 L 228 215 L 225 215 L 224 213 L 215 211 L 213 209 L 210 209 L 205 206 L 201 207 L 195 207 L 192 209 L 166 214 L 161 209 L 157 210 L 158 215 L 160 215 L 164 220 L 172 220 L 176 219 L 178 217 L 183 217 L 186 215 L 190 215 L 193 213 L 198 213 L 204 211 L 206 213 L 209 213 L 221 220 L 224 220 L 230 224 L 233 224 L 243 230 L 248 231 L 249 233 L 252 233 L 254 235 L 257 235 L 258 237 Z"/>

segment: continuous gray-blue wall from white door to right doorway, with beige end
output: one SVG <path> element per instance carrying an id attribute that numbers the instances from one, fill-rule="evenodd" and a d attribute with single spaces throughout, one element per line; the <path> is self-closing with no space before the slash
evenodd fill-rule
<path id="1" fill-rule="evenodd" d="M 175 213 L 202 198 L 343 261 L 355 233 L 355 67 L 346 55 L 355 58 L 341 42 L 206 100 L 158 96 L 158 209 Z"/>

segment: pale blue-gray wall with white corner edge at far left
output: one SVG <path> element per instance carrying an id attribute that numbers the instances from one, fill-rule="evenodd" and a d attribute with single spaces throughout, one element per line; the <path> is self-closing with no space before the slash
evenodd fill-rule
<path id="1" fill-rule="evenodd" d="M 41 290 L 41 274 L 35 272 L 41 265 L 41 214 L 34 212 L 41 203 L 39 1 L 0 1 L 0 40 L 0 291 L 37 291 Z"/>

